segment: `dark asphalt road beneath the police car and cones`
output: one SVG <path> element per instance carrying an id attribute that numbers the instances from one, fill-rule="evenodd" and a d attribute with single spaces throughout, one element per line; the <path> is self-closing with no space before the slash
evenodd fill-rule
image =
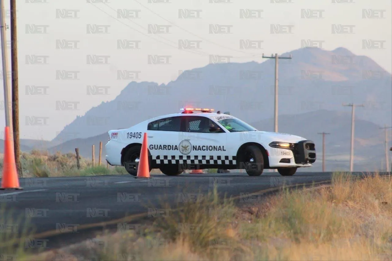
<path id="1" fill-rule="evenodd" d="M 214 185 L 220 193 L 238 197 L 239 202 L 249 202 L 258 200 L 260 193 L 274 190 L 283 183 L 329 181 L 331 176 L 332 172 L 297 172 L 291 177 L 265 172 L 251 177 L 233 172 L 175 177 L 152 175 L 151 179 L 135 179 L 131 175 L 22 178 L 23 190 L 0 190 L 0 205 L 5 205 L 5 214 L 12 216 L 6 221 L 0 218 L 0 223 L 3 222 L 0 230 L 19 231 L 21 226 L 15 221 L 18 218 L 30 220 L 38 233 L 35 240 L 44 240 L 44 243 L 37 241 L 35 244 L 54 248 L 64 242 L 83 240 L 94 230 L 102 230 L 102 224 L 97 224 L 100 222 L 118 227 L 119 223 L 126 222 L 116 219 L 129 215 L 135 218 L 164 216 L 166 212 L 160 208 L 162 200 L 173 204 L 192 201 L 196 194 L 205 194 Z M 259 192 L 259 196 L 249 195 L 255 192 Z"/>

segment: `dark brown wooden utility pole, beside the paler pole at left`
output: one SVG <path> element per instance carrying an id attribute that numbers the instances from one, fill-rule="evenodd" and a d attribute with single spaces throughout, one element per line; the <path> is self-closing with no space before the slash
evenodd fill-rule
<path id="1" fill-rule="evenodd" d="M 16 0 L 10 0 L 11 9 L 11 71 L 12 71 L 12 125 L 14 127 L 14 153 L 19 178 L 23 177 L 19 147 L 19 91 L 18 91 L 18 48 L 16 31 Z"/>

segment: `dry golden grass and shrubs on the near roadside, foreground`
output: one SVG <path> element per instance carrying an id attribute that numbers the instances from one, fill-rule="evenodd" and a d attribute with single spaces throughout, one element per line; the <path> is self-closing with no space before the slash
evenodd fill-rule
<path id="1" fill-rule="evenodd" d="M 218 199 L 214 189 L 175 208 L 163 204 L 151 224 L 107 232 L 28 260 L 392 258 L 391 176 L 359 179 L 334 173 L 330 186 L 283 188 L 253 199 L 235 205 L 232 199 Z"/>

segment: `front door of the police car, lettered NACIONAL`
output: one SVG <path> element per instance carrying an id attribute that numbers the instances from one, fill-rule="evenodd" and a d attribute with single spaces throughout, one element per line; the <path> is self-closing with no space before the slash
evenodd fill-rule
<path id="1" fill-rule="evenodd" d="M 183 140 L 178 146 L 183 159 L 187 159 L 188 164 L 225 164 L 227 133 L 204 116 L 184 116 L 184 122 Z M 212 125 L 221 132 L 210 132 Z"/>

